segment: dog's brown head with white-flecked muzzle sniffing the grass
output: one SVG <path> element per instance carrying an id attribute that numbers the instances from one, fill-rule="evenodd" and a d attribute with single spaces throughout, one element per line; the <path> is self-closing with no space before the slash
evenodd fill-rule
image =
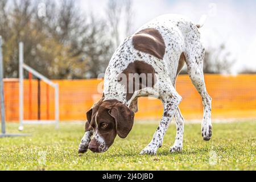
<path id="1" fill-rule="evenodd" d="M 102 99 L 86 115 L 85 131 L 94 131 L 89 144 L 93 152 L 107 151 L 117 135 L 126 138 L 133 127 L 134 112 L 117 100 Z"/>

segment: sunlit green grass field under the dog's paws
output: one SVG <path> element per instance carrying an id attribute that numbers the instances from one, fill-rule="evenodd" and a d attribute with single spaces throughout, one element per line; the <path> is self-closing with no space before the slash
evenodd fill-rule
<path id="1" fill-rule="evenodd" d="M 17 124 L 7 123 L 9 132 Z M 200 124 L 185 125 L 184 150 L 170 154 L 171 125 L 156 156 L 139 152 L 150 142 L 157 122 L 137 122 L 129 137 L 115 140 L 104 154 L 77 154 L 82 123 L 25 126 L 32 137 L 0 139 L 1 170 L 256 170 L 256 122 L 213 123 L 213 138 L 204 142 Z"/>

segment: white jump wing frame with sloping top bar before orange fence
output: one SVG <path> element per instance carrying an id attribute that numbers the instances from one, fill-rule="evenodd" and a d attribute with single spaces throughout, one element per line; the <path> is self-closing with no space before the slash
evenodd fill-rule
<path id="1" fill-rule="evenodd" d="M 24 64 L 24 57 L 23 57 L 23 48 L 24 44 L 22 42 L 19 43 L 19 129 L 23 130 L 24 124 L 55 124 L 56 129 L 59 128 L 59 84 L 52 82 L 47 77 L 43 76 L 39 72 L 35 71 L 35 69 L 29 67 L 28 65 Z M 23 118 L 23 69 L 32 73 L 32 75 L 40 78 L 40 80 L 46 82 L 46 84 L 52 86 L 55 89 L 55 120 L 24 120 Z"/>

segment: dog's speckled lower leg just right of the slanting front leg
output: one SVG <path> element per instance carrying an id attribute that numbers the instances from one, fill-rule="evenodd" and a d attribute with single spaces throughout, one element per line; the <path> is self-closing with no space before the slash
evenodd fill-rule
<path id="1" fill-rule="evenodd" d="M 181 152 L 183 148 L 183 134 L 184 134 L 184 118 L 178 108 L 175 115 L 176 122 L 176 138 L 174 146 L 170 148 L 170 152 Z"/>

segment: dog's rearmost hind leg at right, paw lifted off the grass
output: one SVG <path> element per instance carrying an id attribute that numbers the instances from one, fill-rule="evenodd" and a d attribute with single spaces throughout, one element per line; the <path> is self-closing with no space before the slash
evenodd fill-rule
<path id="1" fill-rule="evenodd" d="M 191 78 L 193 85 L 195 85 L 197 91 L 199 92 L 204 106 L 204 118 L 202 122 L 202 136 L 204 140 L 210 140 L 212 137 L 212 98 L 207 92 L 204 81 L 204 54 L 205 49 L 201 46 L 200 42 L 194 42 L 190 47 L 189 51 L 185 52 L 185 61 L 188 66 L 188 74 Z"/>

